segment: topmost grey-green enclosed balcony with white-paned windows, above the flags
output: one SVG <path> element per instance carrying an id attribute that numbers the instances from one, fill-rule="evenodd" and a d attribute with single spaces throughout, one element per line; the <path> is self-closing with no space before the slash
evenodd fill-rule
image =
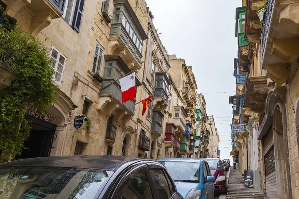
<path id="1" fill-rule="evenodd" d="M 115 11 L 107 54 L 121 56 L 127 66 L 133 70 L 141 66 L 142 44 L 147 39 L 147 34 L 128 0 L 113 2 Z"/>

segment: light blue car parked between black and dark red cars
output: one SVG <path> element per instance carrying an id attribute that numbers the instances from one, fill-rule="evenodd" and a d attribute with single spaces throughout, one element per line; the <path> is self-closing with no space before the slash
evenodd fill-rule
<path id="1" fill-rule="evenodd" d="M 190 158 L 159 159 L 184 199 L 215 199 L 215 177 L 205 160 Z"/>

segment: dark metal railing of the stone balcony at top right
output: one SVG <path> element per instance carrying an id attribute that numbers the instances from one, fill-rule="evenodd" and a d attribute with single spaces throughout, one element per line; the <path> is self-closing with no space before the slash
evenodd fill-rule
<path id="1" fill-rule="evenodd" d="M 273 6 L 274 6 L 274 0 L 267 0 L 266 11 L 264 12 L 263 32 L 262 32 L 262 38 L 261 38 L 262 61 L 264 58 L 264 52 L 265 52 L 265 47 L 266 47 L 266 43 L 267 43 L 267 37 L 268 37 L 269 26 L 270 26 L 270 21 L 271 21 L 271 17 L 272 17 Z"/>

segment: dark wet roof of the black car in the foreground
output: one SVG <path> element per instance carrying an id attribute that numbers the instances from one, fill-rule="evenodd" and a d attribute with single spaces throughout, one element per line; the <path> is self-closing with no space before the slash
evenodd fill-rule
<path id="1" fill-rule="evenodd" d="M 28 158 L 0 164 L 0 167 L 37 166 L 37 167 L 73 167 L 115 171 L 126 163 L 133 164 L 149 159 L 111 155 L 72 155 Z"/>

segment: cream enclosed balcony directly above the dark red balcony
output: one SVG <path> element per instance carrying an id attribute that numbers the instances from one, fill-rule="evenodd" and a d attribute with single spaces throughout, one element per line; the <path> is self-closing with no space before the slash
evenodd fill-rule
<path id="1" fill-rule="evenodd" d="M 187 113 L 183 106 L 174 106 L 173 123 L 178 128 L 178 137 L 183 136 L 186 130 Z"/>

